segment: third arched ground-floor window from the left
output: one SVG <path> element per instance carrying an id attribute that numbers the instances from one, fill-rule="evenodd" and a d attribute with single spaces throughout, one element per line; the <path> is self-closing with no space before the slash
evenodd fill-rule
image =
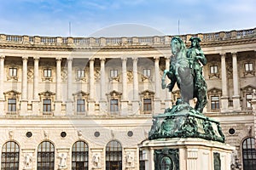
<path id="1" fill-rule="evenodd" d="M 72 170 L 88 169 L 88 145 L 78 141 L 72 147 Z"/>

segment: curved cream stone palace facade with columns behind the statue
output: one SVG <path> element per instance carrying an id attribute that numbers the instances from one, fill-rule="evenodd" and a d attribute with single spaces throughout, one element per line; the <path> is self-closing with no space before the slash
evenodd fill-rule
<path id="1" fill-rule="evenodd" d="M 189 47 L 192 36 L 207 57 L 203 112 L 236 146 L 230 169 L 253 169 L 256 29 L 180 37 Z M 179 98 L 160 87 L 171 39 L 1 34 L 2 169 L 144 169 L 138 144 Z"/>

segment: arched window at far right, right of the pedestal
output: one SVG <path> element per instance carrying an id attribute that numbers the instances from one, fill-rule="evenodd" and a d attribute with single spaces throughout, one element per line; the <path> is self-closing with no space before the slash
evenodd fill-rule
<path id="1" fill-rule="evenodd" d="M 242 142 L 243 169 L 254 170 L 256 167 L 255 139 L 247 138 Z"/>

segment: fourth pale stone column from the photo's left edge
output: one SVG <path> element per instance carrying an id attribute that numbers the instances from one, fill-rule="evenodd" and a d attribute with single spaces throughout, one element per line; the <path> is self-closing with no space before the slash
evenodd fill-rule
<path id="1" fill-rule="evenodd" d="M 61 57 L 56 58 L 55 116 L 61 116 Z"/>

